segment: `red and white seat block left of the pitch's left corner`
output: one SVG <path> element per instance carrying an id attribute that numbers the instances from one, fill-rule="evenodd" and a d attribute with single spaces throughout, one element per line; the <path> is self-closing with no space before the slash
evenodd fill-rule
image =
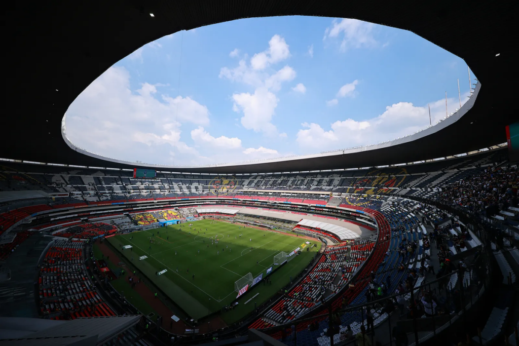
<path id="1" fill-rule="evenodd" d="M 56 241 L 40 266 L 40 312 L 51 320 L 115 316 L 89 279 L 83 242 Z"/>

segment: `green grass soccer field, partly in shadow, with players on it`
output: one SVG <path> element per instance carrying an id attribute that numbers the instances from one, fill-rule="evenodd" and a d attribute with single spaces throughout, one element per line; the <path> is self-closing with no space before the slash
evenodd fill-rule
<path id="1" fill-rule="evenodd" d="M 281 251 L 289 253 L 307 241 L 225 222 L 211 224 L 211 220 L 187 225 L 138 231 L 107 240 L 194 319 L 218 311 L 235 300 L 235 281 L 242 276 L 252 273 L 256 277 L 263 273 L 265 278 L 274 255 Z M 240 298 L 239 309 L 235 309 L 238 311 L 224 314 L 224 320 L 230 323 L 241 318 L 240 315 L 254 309 L 253 302 L 246 307 L 245 301 L 260 293 L 254 299 L 260 305 L 287 284 L 290 276 L 301 272 L 320 248 L 318 241 L 310 243 L 317 246 L 307 245 L 301 255 L 272 274 L 272 285 L 253 287 Z M 124 245 L 131 245 L 132 250 L 121 250 Z M 307 248 L 310 250 L 306 251 Z M 144 255 L 147 258 L 140 260 Z M 167 271 L 156 276 L 161 270 Z"/>

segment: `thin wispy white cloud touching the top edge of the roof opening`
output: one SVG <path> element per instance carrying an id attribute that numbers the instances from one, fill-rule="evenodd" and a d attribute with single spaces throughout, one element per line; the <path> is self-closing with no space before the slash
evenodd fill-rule
<path id="1" fill-rule="evenodd" d="M 332 26 L 327 27 L 324 38 L 335 39 L 342 36 L 340 50 L 346 51 L 351 48 L 371 48 L 378 42 L 373 36 L 373 23 L 363 22 L 357 19 L 342 19 L 340 22 L 333 20 Z"/>

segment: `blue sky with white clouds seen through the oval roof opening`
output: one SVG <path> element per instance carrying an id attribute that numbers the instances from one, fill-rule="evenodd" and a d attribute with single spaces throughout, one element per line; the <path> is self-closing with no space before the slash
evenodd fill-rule
<path id="1" fill-rule="evenodd" d="M 368 145 L 459 108 L 467 65 L 410 32 L 350 19 L 242 19 L 162 37 L 95 80 L 67 135 L 111 158 L 239 162 Z M 472 78 L 474 76 L 472 75 Z"/>

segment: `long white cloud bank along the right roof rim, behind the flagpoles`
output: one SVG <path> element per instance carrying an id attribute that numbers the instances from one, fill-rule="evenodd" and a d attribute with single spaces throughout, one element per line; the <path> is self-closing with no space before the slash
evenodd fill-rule
<path id="1" fill-rule="evenodd" d="M 468 93 L 464 96 L 467 96 Z M 467 100 L 463 97 L 462 100 Z M 332 100 L 333 101 L 333 100 Z M 459 107 L 457 99 L 448 99 L 448 112 Z M 445 116 L 445 100 L 430 103 L 434 124 Z M 303 123 L 296 135 L 296 142 L 302 148 L 329 150 L 358 145 L 391 141 L 398 137 L 425 129 L 429 125 L 428 106 L 415 106 L 409 102 L 399 102 L 387 106 L 379 116 L 363 121 L 337 120 L 326 131 L 320 124 Z"/>

